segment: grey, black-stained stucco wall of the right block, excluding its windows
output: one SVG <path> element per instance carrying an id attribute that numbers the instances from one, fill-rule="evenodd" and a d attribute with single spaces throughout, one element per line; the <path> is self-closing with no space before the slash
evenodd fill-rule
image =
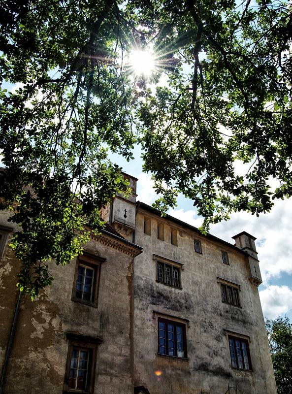
<path id="1" fill-rule="evenodd" d="M 143 233 L 144 215 L 151 217 L 151 235 Z M 164 241 L 157 238 L 157 221 L 164 223 Z M 178 246 L 171 245 L 170 225 L 177 229 Z M 195 252 L 194 238 L 201 241 L 202 254 Z M 229 383 L 241 394 L 276 394 L 258 289 L 249 281 L 247 258 L 143 210 L 137 214 L 135 242 L 144 250 L 135 259 L 135 385 L 144 385 L 151 394 L 197 394 L 201 389 L 224 394 Z M 229 265 L 222 262 L 221 250 L 227 251 Z M 184 264 L 182 290 L 156 281 L 153 254 Z M 222 302 L 218 277 L 240 285 L 241 308 Z M 157 354 L 157 313 L 189 320 L 187 361 Z M 250 338 L 252 372 L 231 367 L 228 331 Z"/>

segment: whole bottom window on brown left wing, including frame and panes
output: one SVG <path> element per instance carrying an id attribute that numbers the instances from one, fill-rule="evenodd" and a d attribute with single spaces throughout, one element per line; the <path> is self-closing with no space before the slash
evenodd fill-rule
<path id="1" fill-rule="evenodd" d="M 64 393 L 93 393 L 97 344 L 100 338 L 68 332 Z"/>

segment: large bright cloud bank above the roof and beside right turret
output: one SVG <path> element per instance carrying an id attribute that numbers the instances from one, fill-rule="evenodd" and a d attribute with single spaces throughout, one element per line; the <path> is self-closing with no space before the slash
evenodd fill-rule
<path id="1" fill-rule="evenodd" d="M 143 200 L 143 198 L 142 198 Z M 192 226 L 199 227 L 202 219 L 195 209 L 172 209 L 169 214 Z M 278 200 L 272 211 L 260 217 L 247 212 L 237 212 L 230 220 L 211 226 L 211 234 L 233 243 L 233 235 L 245 230 L 257 237 L 260 270 L 264 284 L 283 273 L 292 274 L 292 201 Z"/>

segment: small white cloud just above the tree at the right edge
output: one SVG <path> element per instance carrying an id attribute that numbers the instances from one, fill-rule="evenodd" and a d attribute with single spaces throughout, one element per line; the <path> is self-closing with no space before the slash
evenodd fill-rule
<path id="1" fill-rule="evenodd" d="M 263 316 L 275 319 L 292 310 L 292 289 L 288 286 L 269 286 L 260 293 Z"/>

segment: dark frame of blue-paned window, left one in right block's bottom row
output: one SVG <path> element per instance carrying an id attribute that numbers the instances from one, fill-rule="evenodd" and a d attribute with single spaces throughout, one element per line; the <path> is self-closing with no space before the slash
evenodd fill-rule
<path id="1" fill-rule="evenodd" d="M 169 354 L 164 354 L 164 353 L 160 353 L 160 323 L 164 323 L 165 324 L 165 351 L 167 350 L 167 352 L 169 352 L 169 348 L 168 348 L 168 329 L 167 329 L 167 324 L 172 324 L 174 327 L 174 355 L 169 355 Z M 183 346 L 183 353 L 184 353 L 184 357 L 180 357 L 177 356 L 177 327 L 181 327 L 182 328 L 182 346 Z M 178 322 L 178 321 L 174 321 L 174 320 L 170 320 L 170 319 L 166 319 L 164 317 L 160 317 L 158 316 L 157 318 L 157 339 L 158 339 L 158 352 L 157 354 L 159 356 L 165 356 L 165 357 L 170 357 L 170 358 L 175 358 L 178 360 L 186 360 L 188 359 L 188 349 L 187 349 L 187 330 L 186 330 L 186 323 L 182 323 L 182 322 Z"/>

